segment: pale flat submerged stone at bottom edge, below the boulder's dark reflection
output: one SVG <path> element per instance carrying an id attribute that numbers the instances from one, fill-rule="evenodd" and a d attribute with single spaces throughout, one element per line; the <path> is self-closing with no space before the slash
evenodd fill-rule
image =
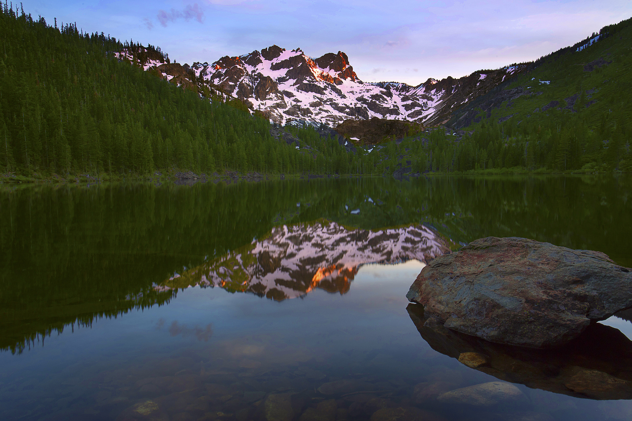
<path id="1" fill-rule="evenodd" d="M 490 381 L 451 390 L 439 395 L 437 400 L 451 405 L 494 406 L 525 403 L 527 398 L 511 383 Z"/>

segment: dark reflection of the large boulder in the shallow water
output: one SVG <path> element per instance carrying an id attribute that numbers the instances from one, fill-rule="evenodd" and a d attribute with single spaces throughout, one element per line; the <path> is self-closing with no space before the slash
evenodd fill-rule
<path id="1" fill-rule="evenodd" d="M 435 351 L 498 379 L 575 398 L 632 399 L 632 341 L 619 329 L 591 324 L 561 348 L 536 350 L 444 328 L 419 304 L 409 304 L 406 310 Z"/>

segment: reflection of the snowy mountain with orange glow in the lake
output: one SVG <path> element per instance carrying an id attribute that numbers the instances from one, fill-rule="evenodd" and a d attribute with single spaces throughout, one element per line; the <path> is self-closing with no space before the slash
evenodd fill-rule
<path id="1" fill-rule="evenodd" d="M 155 290 L 200 285 L 277 301 L 314 288 L 345 294 L 363 264 L 427 261 L 449 251 L 449 240 L 424 225 L 383 230 L 349 229 L 325 220 L 283 225 L 262 240 L 174 275 Z"/>

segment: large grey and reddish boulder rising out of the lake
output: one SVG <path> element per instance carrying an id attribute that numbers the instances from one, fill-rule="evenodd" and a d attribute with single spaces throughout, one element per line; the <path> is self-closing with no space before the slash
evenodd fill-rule
<path id="1" fill-rule="evenodd" d="M 434 259 L 406 297 L 446 328 L 551 348 L 632 307 L 632 273 L 598 251 L 487 237 Z"/>

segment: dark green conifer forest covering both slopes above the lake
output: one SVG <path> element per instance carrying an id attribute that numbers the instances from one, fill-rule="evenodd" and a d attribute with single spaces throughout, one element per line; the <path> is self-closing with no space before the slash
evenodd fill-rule
<path id="1" fill-rule="evenodd" d="M 300 139 L 300 147 L 288 145 L 270 134 L 267 119 L 251 115 L 239 100 L 217 90 L 177 86 L 116 54 L 143 50 L 164 59 L 158 47 L 83 33 L 76 23 L 36 20 L 8 4 L 0 9 L 4 179 L 120 178 L 154 170 L 208 175 L 632 171 L 632 104 L 626 95 L 632 69 L 625 48 L 632 40 L 630 20 L 602 28 L 605 40 L 592 50 L 559 50 L 504 82 L 496 90 L 539 83 L 539 92 L 480 112 L 460 127 L 459 136 L 431 127 L 349 150 L 296 122 L 284 130 Z M 585 71 L 576 65 L 606 48 L 614 52 L 607 66 Z"/>

